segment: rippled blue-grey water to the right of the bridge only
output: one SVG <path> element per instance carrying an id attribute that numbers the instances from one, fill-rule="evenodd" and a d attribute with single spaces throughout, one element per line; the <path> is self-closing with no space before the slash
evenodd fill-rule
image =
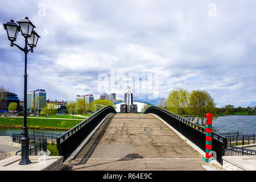
<path id="1" fill-rule="evenodd" d="M 217 133 L 241 132 L 256 134 L 256 115 L 228 115 L 213 120 L 213 131 Z"/>

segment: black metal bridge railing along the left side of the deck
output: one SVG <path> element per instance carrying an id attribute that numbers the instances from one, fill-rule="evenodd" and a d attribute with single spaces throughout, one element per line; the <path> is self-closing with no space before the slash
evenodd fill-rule
<path id="1" fill-rule="evenodd" d="M 117 112 L 114 107 L 106 106 L 58 137 L 57 150 L 59 150 L 59 155 L 63 156 L 64 160 L 67 159 L 81 142 L 96 128 L 102 119 L 110 113 L 116 114 Z"/>

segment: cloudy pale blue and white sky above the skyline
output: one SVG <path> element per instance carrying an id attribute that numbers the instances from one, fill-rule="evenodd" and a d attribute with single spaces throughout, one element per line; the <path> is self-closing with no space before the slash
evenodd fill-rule
<path id="1" fill-rule="evenodd" d="M 256 1 L 0 4 L 2 23 L 28 16 L 42 37 L 28 53 L 28 91 L 46 89 L 50 100 L 96 99 L 104 90 L 123 99 L 128 85 L 135 99 L 153 104 L 184 88 L 207 90 L 218 107 L 256 105 Z M 16 43 L 24 46 L 21 34 Z M 23 99 L 23 73 L 24 54 L 1 25 L 0 86 Z M 141 77 L 139 87 L 123 84 L 136 80 L 129 73 Z"/>

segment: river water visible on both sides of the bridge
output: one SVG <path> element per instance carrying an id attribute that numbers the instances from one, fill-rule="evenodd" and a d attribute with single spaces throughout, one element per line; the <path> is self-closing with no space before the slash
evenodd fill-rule
<path id="1" fill-rule="evenodd" d="M 221 116 L 213 120 L 213 131 L 217 133 L 241 132 L 242 134 L 256 134 L 256 115 L 228 115 Z M 28 133 L 32 131 L 41 131 L 46 133 L 65 133 L 61 130 L 39 130 L 28 129 Z M 13 133 L 22 133 L 22 129 L 10 127 L 0 127 L 0 136 L 11 136 Z"/>

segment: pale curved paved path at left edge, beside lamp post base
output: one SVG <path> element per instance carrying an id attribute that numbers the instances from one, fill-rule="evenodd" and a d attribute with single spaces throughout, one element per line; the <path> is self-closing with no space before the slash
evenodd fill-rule
<path id="1" fill-rule="evenodd" d="M 20 146 L 11 146 L 11 142 L 11 137 L 0 137 L 0 160 L 14 156 L 16 151 L 20 150 Z"/>

